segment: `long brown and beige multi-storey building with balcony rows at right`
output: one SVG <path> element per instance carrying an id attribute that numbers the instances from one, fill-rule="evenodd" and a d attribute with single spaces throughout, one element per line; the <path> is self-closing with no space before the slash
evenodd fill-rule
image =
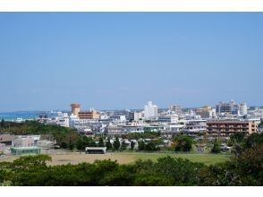
<path id="1" fill-rule="evenodd" d="M 217 120 L 207 123 L 207 133 L 212 136 L 229 136 L 233 133 L 258 133 L 258 124 L 249 121 Z"/>

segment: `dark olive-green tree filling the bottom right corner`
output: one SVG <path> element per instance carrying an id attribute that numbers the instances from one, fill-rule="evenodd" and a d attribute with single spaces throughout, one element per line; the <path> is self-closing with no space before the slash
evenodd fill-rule
<path id="1" fill-rule="evenodd" d="M 199 185 L 262 186 L 263 144 L 233 155 L 229 161 L 204 167 L 199 173 Z"/>

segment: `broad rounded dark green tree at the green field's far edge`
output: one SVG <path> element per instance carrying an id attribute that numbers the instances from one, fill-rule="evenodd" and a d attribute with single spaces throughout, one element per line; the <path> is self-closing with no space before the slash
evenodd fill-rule
<path id="1" fill-rule="evenodd" d="M 193 140 L 190 136 L 187 135 L 177 135 L 174 138 L 175 142 L 175 151 L 190 151 Z"/>

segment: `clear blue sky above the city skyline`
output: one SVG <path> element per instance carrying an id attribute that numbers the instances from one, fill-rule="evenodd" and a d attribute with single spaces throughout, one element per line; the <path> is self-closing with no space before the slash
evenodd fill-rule
<path id="1" fill-rule="evenodd" d="M 0 111 L 263 105 L 263 13 L 0 13 Z"/>

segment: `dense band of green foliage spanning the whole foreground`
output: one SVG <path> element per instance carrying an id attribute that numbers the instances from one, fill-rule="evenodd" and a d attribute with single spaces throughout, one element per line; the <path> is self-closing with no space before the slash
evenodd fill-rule
<path id="1" fill-rule="evenodd" d="M 213 166 L 164 157 L 120 165 L 97 160 L 78 165 L 48 166 L 47 155 L 0 163 L 0 184 L 11 185 L 263 185 L 263 134 L 242 140 L 240 154 Z"/>

